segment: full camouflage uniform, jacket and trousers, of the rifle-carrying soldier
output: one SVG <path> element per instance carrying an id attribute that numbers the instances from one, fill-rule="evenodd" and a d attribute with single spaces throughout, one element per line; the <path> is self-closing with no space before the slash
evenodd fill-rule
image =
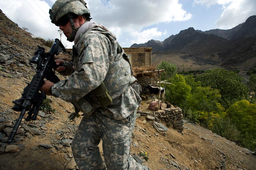
<path id="1" fill-rule="evenodd" d="M 134 81 L 129 75 L 130 67 L 112 67 L 123 60 L 123 49 L 118 53 L 120 46 L 115 36 L 102 25 L 92 22 L 86 22 L 78 29 L 74 42 L 72 61 L 65 62 L 66 69 L 60 72 L 70 76 L 54 84 L 51 91 L 52 95 L 65 101 L 78 102 L 81 98 L 85 101 L 81 106 L 85 116 L 71 146 L 77 165 L 80 169 L 149 169 L 130 156 L 136 108 L 141 98 L 126 83 Z M 111 77 L 120 70 L 126 70 L 124 75 L 129 79 L 125 80 L 126 85 L 112 89 L 116 81 L 119 82 L 116 86 L 120 82 L 122 84 L 122 80 Z M 113 98 L 112 103 L 105 107 L 99 104 L 95 95 L 95 89 L 102 82 L 105 82 Z M 105 164 L 98 148 L 101 139 Z"/>

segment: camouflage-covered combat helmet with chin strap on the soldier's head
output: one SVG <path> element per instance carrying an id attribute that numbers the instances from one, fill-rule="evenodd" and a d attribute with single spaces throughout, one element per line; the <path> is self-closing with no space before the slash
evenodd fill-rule
<path id="1" fill-rule="evenodd" d="M 59 20 L 62 17 L 68 17 L 72 27 L 72 36 L 67 38 L 68 41 L 74 41 L 75 34 L 77 33 L 77 29 L 74 27 L 74 22 L 72 20 L 72 15 L 85 15 L 88 14 L 90 18 L 90 12 L 86 6 L 86 2 L 84 0 L 57 0 L 52 8 L 49 10 L 51 22 L 56 26 L 59 26 Z"/>

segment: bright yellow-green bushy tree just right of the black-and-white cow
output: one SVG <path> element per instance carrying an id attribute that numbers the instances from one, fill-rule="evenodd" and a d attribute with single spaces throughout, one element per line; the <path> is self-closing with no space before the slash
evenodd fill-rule
<path id="1" fill-rule="evenodd" d="M 165 99 L 173 105 L 181 105 L 190 94 L 191 87 L 185 83 L 182 75 L 175 75 L 168 82 L 172 84 L 166 86 Z"/>

